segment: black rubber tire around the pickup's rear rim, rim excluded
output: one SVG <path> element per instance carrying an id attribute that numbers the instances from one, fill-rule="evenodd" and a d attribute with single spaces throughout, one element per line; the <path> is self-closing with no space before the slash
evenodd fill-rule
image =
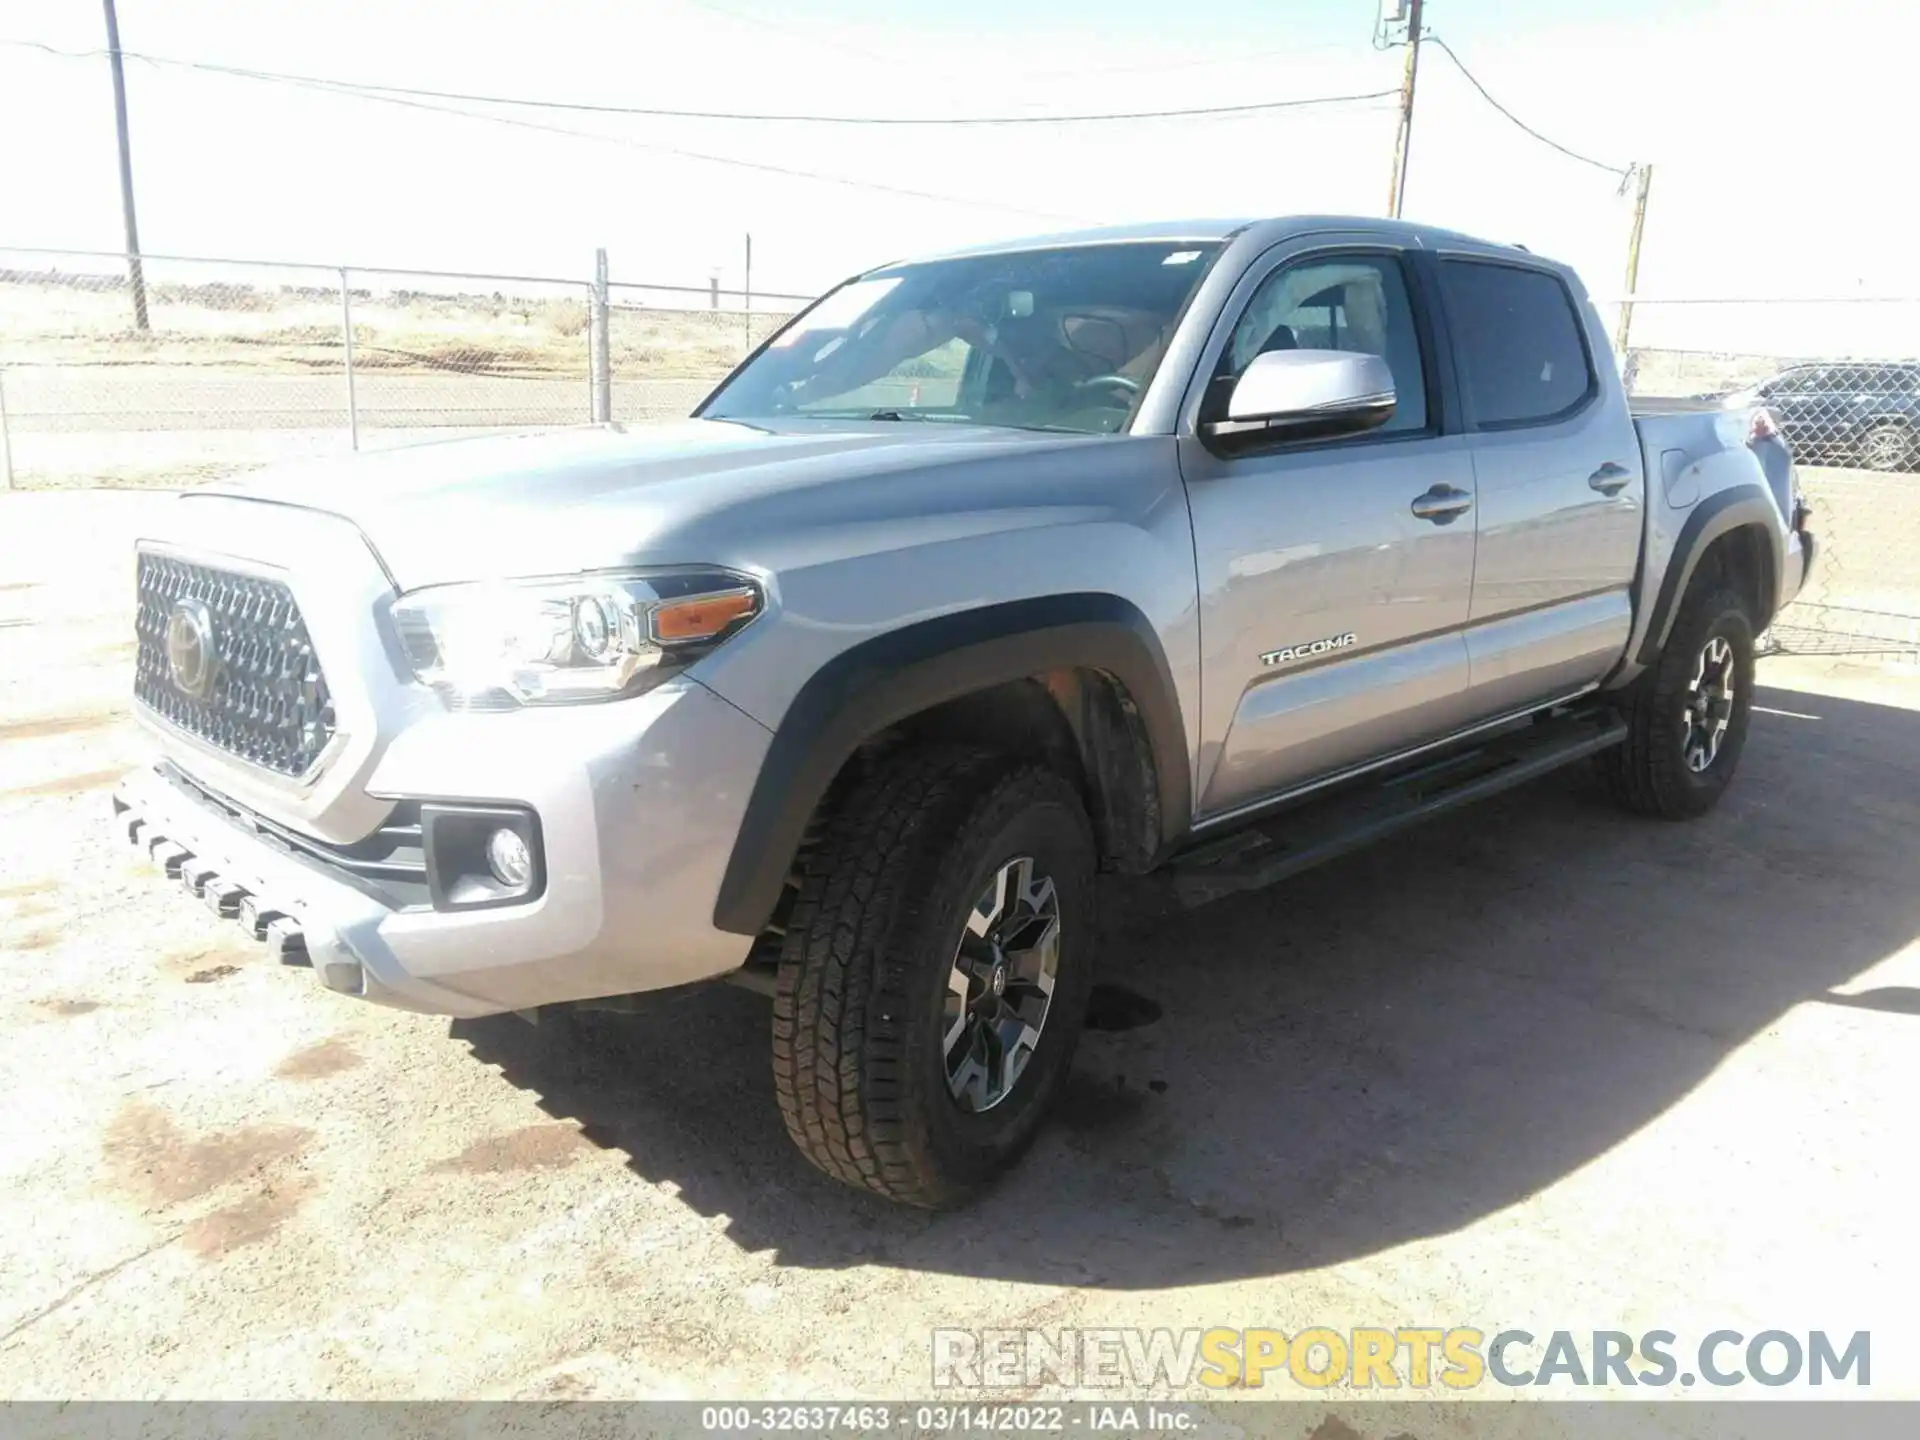
<path id="1" fill-rule="evenodd" d="M 1686 762 L 1686 705 L 1701 653 L 1713 639 L 1734 653 L 1734 703 L 1713 762 L 1693 772 Z M 1693 586 L 1680 603 L 1661 659 L 1628 689 L 1622 705 L 1626 741 L 1596 756 L 1613 799 L 1634 814 L 1695 820 L 1720 803 L 1753 712 L 1753 620 L 1740 595 L 1720 584 Z"/>

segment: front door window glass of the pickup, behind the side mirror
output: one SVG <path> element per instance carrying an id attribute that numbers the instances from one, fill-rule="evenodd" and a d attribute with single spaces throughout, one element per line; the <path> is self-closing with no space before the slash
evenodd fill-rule
<path id="1" fill-rule="evenodd" d="M 1394 372 L 1394 413 L 1371 434 L 1427 428 L 1427 372 L 1400 261 L 1342 255 L 1283 265 L 1246 301 L 1208 384 L 1204 419 L 1227 413 L 1235 380 L 1269 349 L 1379 355 Z"/>

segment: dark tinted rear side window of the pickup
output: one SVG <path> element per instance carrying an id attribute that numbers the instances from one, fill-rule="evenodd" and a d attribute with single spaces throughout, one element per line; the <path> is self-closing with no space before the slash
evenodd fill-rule
<path id="1" fill-rule="evenodd" d="M 1551 275 L 1469 259 L 1440 261 L 1467 405 L 1482 428 L 1540 424 L 1594 390 L 1580 315 Z"/>

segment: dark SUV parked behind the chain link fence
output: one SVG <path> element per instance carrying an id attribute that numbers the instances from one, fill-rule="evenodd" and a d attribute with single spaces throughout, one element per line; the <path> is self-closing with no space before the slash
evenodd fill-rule
<path id="1" fill-rule="evenodd" d="M 1795 459 L 1912 470 L 1920 461 L 1920 361 L 1795 365 L 1730 403 L 1763 403 Z"/>

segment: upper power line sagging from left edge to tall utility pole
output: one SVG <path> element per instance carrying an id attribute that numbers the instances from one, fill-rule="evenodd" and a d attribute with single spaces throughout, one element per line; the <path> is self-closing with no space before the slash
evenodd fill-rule
<path id="1" fill-rule="evenodd" d="M 67 60 L 86 60 L 90 52 L 56 50 L 33 40 L 8 40 L 8 44 L 31 46 Z M 747 121 L 764 125 L 1106 125 L 1114 121 L 1154 121 L 1154 119 L 1202 119 L 1221 115 L 1258 115 L 1273 109 L 1304 109 L 1309 106 L 1340 106 L 1361 100 L 1384 100 L 1394 90 L 1367 90 L 1361 94 L 1306 96 L 1300 100 L 1254 100 L 1238 106 L 1192 106 L 1185 109 L 1127 109 L 1094 115 L 768 115 L 758 111 L 733 109 L 666 109 L 659 106 L 607 106 L 586 100 L 536 100 L 530 96 L 476 94 L 470 90 L 426 90 L 411 84 L 372 84 L 367 81 L 342 81 L 326 75 L 296 75 L 288 71 L 250 69 L 244 65 L 219 65 L 204 60 L 179 60 L 175 56 L 150 56 L 134 50 L 125 52 L 129 60 L 144 60 L 150 65 L 173 65 L 179 69 L 205 71 L 211 75 L 234 75 L 250 81 L 273 81 L 278 84 L 309 84 L 332 90 L 349 90 L 369 96 L 403 96 L 409 100 L 447 100 L 463 106 L 516 106 L 522 109 L 566 109 L 588 115 L 637 115 L 643 119 L 689 119 L 689 121 Z"/>

